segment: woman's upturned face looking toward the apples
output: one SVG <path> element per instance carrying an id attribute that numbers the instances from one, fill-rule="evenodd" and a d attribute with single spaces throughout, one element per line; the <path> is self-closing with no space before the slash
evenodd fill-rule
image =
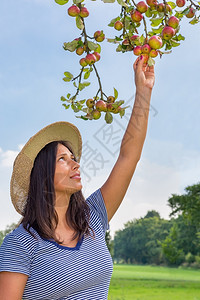
<path id="1" fill-rule="evenodd" d="M 58 144 L 54 175 L 56 198 L 60 195 L 73 193 L 82 189 L 80 165 L 74 160 L 73 154 L 67 147 Z"/>

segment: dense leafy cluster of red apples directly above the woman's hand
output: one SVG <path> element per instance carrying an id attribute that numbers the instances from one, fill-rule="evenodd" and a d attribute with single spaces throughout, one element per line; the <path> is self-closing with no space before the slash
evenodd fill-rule
<path id="1" fill-rule="evenodd" d="M 184 40 L 184 37 L 178 34 L 183 16 L 194 17 L 191 24 L 199 21 L 199 18 L 195 16 L 195 9 L 199 10 L 200 7 L 199 5 L 196 5 L 195 8 L 192 7 L 195 5 L 193 1 L 190 1 L 189 7 L 183 11 L 174 11 L 174 8 L 182 8 L 185 4 L 186 0 L 176 0 L 176 3 L 165 0 L 161 3 L 157 0 L 146 0 L 134 3 L 134 9 L 133 6 L 127 5 L 122 8 L 120 16 L 109 24 L 118 31 L 122 30 L 122 34 L 115 39 L 108 39 L 108 42 L 119 44 L 117 52 L 133 51 L 134 55 L 142 55 L 144 62 L 152 65 L 155 63 L 153 58 L 158 54 L 161 57 L 164 53 L 168 53 L 161 48 L 165 47 L 165 51 L 171 50 L 172 47 L 179 46 L 181 40 Z M 150 22 L 151 31 L 147 31 L 147 25 Z M 138 28 L 142 23 L 144 31 L 140 36 Z"/>

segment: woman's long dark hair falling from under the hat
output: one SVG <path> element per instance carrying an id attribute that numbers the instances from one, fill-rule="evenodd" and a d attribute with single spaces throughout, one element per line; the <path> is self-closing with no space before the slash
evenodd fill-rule
<path id="1" fill-rule="evenodd" d="M 34 236 L 30 231 L 32 227 L 41 237 L 53 239 L 61 244 L 62 241 L 59 241 L 54 233 L 58 224 L 58 215 L 54 208 L 54 174 L 58 144 L 67 147 L 74 155 L 69 143 L 65 141 L 51 142 L 38 153 L 31 172 L 29 193 L 21 223 L 31 235 Z M 77 237 L 81 240 L 84 234 L 94 235 L 89 225 L 89 217 L 89 206 L 82 191 L 75 192 L 70 197 L 66 211 L 67 224 L 75 231 L 72 240 Z"/>

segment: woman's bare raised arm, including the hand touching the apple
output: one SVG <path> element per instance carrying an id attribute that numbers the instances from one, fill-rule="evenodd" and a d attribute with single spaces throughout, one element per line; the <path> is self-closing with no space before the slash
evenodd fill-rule
<path id="1" fill-rule="evenodd" d="M 122 139 L 118 159 L 101 192 L 109 221 L 120 206 L 140 159 L 147 132 L 149 106 L 155 81 L 154 67 L 143 64 L 143 58 L 134 63 L 136 95 L 132 114 Z"/>

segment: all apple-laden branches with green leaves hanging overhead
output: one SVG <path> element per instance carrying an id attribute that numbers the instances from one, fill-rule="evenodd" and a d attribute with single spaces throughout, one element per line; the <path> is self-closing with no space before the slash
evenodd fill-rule
<path id="1" fill-rule="evenodd" d="M 66 4 L 68 1 L 55 0 L 60 5 Z M 114 0 L 103 1 L 114 2 Z M 180 21 L 183 17 L 191 19 L 190 24 L 196 24 L 200 21 L 200 16 L 197 15 L 200 10 L 200 2 L 195 3 L 193 0 L 174 1 L 142 0 L 135 3 L 134 0 L 117 0 L 118 4 L 121 5 L 121 13 L 117 18 L 111 20 L 109 26 L 114 27 L 119 32 L 119 36 L 115 36 L 114 39 L 107 38 L 107 41 L 117 44 L 117 52 L 131 51 L 136 56 L 142 55 L 144 63 L 154 64 L 155 57 L 169 53 L 168 50 L 179 46 L 180 41 L 185 39 L 180 34 Z M 81 68 L 77 76 L 73 76 L 70 72 L 64 73 L 63 80 L 65 82 L 71 81 L 76 92 L 74 95 L 68 93 L 66 98 L 61 97 L 64 102 L 63 106 L 66 109 L 71 107 L 75 113 L 80 111 L 85 113 L 85 115 L 76 116 L 77 118 L 97 120 L 105 114 L 105 121 L 111 123 L 113 114 L 119 114 L 120 117 L 123 117 L 127 107 L 122 106 L 123 100 L 116 101 L 118 92 L 115 88 L 114 96 L 108 97 L 102 89 L 96 62 L 101 58 L 99 43 L 105 40 L 105 34 L 102 30 L 95 31 L 92 36 L 87 34 L 85 18 L 89 16 L 89 11 L 85 7 L 84 0 L 73 0 L 73 5 L 67 11 L 69 16 L 76 19 L 76 26 L 81 32 L 79 38 L 64 43 L 63 48 L 70 52 L 76 52 L 78 56 L 83 55 L 83 57 L 79 60 Z M 84 80 L 89 78 L 92 71 L 98 81 L 96 95 L 87 100 L 78 100 L 79 92 L 90 85 L 89 81 Z"/>

